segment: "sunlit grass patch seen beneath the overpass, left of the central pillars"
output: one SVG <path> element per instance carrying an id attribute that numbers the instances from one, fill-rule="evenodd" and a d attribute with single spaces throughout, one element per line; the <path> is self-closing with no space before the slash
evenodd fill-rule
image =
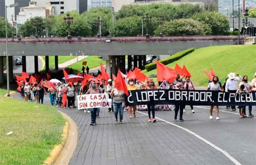
<path id="1" fill-rule="evenodd" d="M 90 70 L 93 68 L 99 67 L 101 62 L 103 65 L 105 65 L 106 64 L 105 60 L 102 60 L 99 57 L 100 56 L 89 56 L 87 58 L 84 58 L 81 61 L 78 61 L 72 65 L 67 66 L 67 68 L 72 68 L 74 71 L 81 71 L 83 66 L 82 65 L 83 61 L 87 61 L 87 66 L 90 68 Z"/>

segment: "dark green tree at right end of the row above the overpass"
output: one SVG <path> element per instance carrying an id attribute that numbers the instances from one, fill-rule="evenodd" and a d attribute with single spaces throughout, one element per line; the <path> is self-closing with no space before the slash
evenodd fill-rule
<path id="1" fill-rule="evenodd" d="M 206 23 L 211 27 L 213 35 L 229 34 L 228 18 L 218 12 L 202 12 L 192 16 L 192 19 L 198 20 L 201 23 Z"/>

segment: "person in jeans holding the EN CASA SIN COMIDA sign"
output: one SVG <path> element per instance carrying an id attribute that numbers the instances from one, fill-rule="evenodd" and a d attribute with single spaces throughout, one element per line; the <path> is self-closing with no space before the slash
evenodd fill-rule
<path id="1" fill-rule="evenodd" d="M 97 87 L 96 82 L 91 82 L 91 87 L 88 89 L 88 91 L 85 94 L 100 94 L 102 93 L 100 89 Z M 99 116 L 99 108 L 91 108 L 90 109 L 91 114 L 91 123 L 90 125 L 96 125 L 96 116 Z"/>

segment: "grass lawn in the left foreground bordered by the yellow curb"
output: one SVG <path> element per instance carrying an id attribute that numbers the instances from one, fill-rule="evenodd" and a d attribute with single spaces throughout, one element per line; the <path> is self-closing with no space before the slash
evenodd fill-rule
<path id="1" fill-rule="evenodd" d="M 61 142 L 65 119 L 52 106 L 9 99 L 5 93 L 0 89 L 0 164 L 43 164 Z"/>

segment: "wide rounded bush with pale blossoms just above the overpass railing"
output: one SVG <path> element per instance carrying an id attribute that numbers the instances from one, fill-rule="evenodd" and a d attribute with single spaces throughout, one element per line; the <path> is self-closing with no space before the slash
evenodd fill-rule
<path id="1" fill-rule="evenodd" d="M 162 30 L 163 34 L 168 36 L 211 34 L 211 28 L 207 24 L 192 19 L 166 21 L 163 23 Z M 155 34 L 160 34 L 160 27 L 157 28 Z"/>

